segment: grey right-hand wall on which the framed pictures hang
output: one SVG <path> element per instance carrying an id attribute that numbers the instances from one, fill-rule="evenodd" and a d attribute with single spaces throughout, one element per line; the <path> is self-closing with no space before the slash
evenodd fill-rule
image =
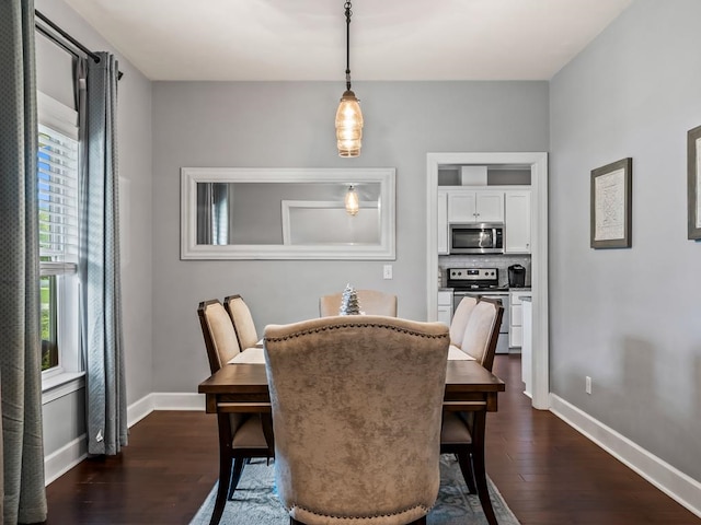
<path id="1" fill-rule="evenodd" d="M 701 479 L 701 2 L 637 0 L 551 82 L 551 389 Z M 632 248 L 589 248 L 589 172 L 633 158 Z M 585 376 L 593 394 L 585 394 Z"/>

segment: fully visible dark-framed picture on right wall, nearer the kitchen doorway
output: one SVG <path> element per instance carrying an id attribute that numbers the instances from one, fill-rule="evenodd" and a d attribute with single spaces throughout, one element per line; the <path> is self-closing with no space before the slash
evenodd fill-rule
<path id="1" fill-rule="evenodd" d="M 633 159 L 591 171 L 591 247 L 630 248 Z"/>

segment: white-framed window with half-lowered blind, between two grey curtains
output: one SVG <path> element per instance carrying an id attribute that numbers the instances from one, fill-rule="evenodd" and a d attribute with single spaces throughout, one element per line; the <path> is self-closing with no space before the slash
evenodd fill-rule
<path id="1" fill-rule="evenodd" d="M 37 152 L 42 372 L 80 371 L 77 113 L 39 93 Z"/>

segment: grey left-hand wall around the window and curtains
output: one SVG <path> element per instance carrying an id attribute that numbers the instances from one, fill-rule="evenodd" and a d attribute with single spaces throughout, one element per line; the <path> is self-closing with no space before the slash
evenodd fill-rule
<path id="1" fill-rule="evenodd" d="M 35 7 L 92 50 L 116 51 L 62 0 L 36 0 Z M 37 35 L 39 90 L 72 106 L 70 56 Z M 123 325 L 127 402 L 153 392 L 151 372 L 151 83 L 119 54 L 119 175 L 124 179 Z M 56 452 L 84 432 L 82 390 L 44 406 L 45 453 Z"/>

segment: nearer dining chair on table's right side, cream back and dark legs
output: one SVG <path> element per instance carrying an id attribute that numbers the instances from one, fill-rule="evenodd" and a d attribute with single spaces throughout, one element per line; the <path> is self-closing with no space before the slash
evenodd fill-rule
<path id="1" fill-rule="evenodd" d="M 461 350 L 492 371 L 504 307 L 499 301 L 480 298 L 466 325 Z M 478 493 L 487 523 L 496 525 L 490 500 L 484 463 L 485 411 L 444 410 L 440 452 L 455 454 L 471 494 Z"/>

